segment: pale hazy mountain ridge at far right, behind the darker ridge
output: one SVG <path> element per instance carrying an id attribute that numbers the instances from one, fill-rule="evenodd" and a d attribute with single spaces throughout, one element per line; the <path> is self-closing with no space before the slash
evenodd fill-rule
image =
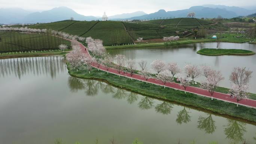
<path id="1" fill-rule="evenodd" d="M 235 12 L 237 16 L 247 16 L 256 12 L 256 8 L 254 10 L 248 10 L 248 9 L 244 9 L 237 6 L 224 6 L 224 5 L 214 5 L 214 4 L 205 4 L 203 6 L 210 7 L 210 8 L 226 9 L 226 10 Z"/>

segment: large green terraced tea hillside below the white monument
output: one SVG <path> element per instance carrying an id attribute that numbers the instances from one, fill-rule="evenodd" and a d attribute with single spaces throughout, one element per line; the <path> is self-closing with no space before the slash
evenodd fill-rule
<path id="1" fill-rule="evenodd" d="M 214 24 L 196 18 L 156 19 L 143 22 L 120 21 L 59 21 L 30 25 L 29 28 L 47 28 L 65 33 L 103 40 L 104 45 L 133 43 L 138 37 L 161 39 L 166 36 L 186 36 L 193 29 L 216 29 L 222 24 Z M 187 31 L 186 33 L 183 33 Z"/>

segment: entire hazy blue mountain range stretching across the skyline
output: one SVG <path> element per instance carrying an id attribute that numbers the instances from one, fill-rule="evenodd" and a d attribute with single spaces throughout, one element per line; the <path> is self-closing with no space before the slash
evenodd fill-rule
<path id="1" fill-rule="evenodd" d="M 208 4 L 204 6 L 193 6 L 189 9 L 175 10 L 175 11 L 165 11 L 163 9 L 158 10 L 155 13 L 144 13 L 142 11 L 133 13 L 123 13 L 120 15 L 109 16 L 110 20 L 133 20 L 133 19 L 160 19 L 160 18 L 179 18 L 186 17 L 188 13 L 195 12 L 196 18 L 216 18 L 218 15 L 223 18 L 233 18 L 237 16 L 246 16 L 256 12 L 255 10 L 248 10 L 241 7 L 235 6 L 223 6 L 223 5 L 213 5 Z M 78 21 L 92 21 L 100 20 L 101 18 L 96 16 L 84 16 L 76 13 L 74 10 L 68 7 L 55 7 L 51 10 L 45 10 L 42 12 L 31 12 L 29 10 L 24 10 L 21 8 L 8 8 L 0 9 L 0 24 L 17 24 L 17 23 L 45 23 L 62 21 L 65 19 L 70 19 Z"/>

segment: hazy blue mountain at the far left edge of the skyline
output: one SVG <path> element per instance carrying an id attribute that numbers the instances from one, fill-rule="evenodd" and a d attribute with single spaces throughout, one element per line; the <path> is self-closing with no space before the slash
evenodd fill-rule
<path id="1" fill-rule="evenodd" d="M 21 8 L 0 8 L 0 23 L 14 24 L 30 13 L 30 11 Z"/>

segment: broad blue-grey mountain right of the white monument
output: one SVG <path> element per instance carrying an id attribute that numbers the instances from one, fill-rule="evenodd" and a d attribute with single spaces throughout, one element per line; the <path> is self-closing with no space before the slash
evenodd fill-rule
<path id="1" fill-rule="evenodd" d="M 129 18 L 132 19 L 160 19 L 160 18 L 184 18 L 190 12 L 196 13 L 196 18 L 217 18 L 218 15 L 221 15 L 223 18 L 234 18 L 237 16 L 235 12 L 226 10 L 226 9 L 219 9 L 219 8 L 210 8 L 210 7 L 203 7 L 203 6 L 193 6 L 189 9 L 184 10 L 176 10 L 176 11 L 168 11 L 161 9 L 158 12 L 150 13 L 148 15 L 143 16 L 135 16 Z"/>

